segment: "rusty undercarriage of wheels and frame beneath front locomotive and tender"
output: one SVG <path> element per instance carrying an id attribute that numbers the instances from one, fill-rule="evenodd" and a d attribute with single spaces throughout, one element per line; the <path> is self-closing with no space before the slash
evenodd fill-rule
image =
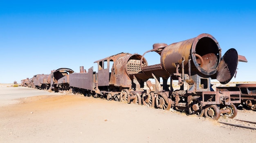
<path id="1" fill-rule="evenodd" d="M 138 84 L 139 82 L 136 83 Z M 230 87 L 222 87 L 221 89 L 217 88 L 217 91 L 189 93 L 189 90 L 184 90 L 183 86 L 180 86 L 180 89 L 175 91 L 173 91 L 172 87 L 163 89 L 163 87 L 169 86 L 160 85 L 157 78 L 155 79 L 155 84 L 152 84 L 150 80 L 147 80 L 144 84 L 146 85 L 144 88 L 120 89 L 119 91 L 118 87 L 108 87 L 105 89 L 116 90 L 100 91 L 101 94 L 75 87 L 72 87 L 72 90 L 73 93 L 81 93 L 85 96 L 106 98 L 107 100 L 139 104 L 163 110 L 173 109 L 185 112 L 187 115 L 204 116 L 214 120 L 218 120 L 221 115 L 229 118 L 236 117 L 237 108 L 235 104 L 241 101 L 238 88 L 231 90 Z M 139 86 L 137 85 L 137 87 Z"/>

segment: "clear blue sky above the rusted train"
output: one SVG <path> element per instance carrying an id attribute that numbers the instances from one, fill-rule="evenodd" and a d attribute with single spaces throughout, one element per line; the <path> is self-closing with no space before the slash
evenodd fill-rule
<path id="1" fill-rule="evenodd" d="M 256 4 L 253 1 L 0 0 L 0 83 L 20 82 L 67 67 L 79 72 L 120 52 L 144 54 L 153 43 L 213 35 L 224 54 L 235 48 L 231 81 L 256 81 Z M 160 63 L 146 58 L 148 63 Z"/>

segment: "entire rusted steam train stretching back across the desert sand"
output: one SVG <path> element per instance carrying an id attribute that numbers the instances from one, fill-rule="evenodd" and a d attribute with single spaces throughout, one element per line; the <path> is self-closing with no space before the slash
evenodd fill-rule
<path id="1" fill-rule="evenodd" d="M 148 65 L 144 57 L 148 52 L 160 55 L 159 64 Z M 98 72 L 94 72 L 93 67 L 88 71 L 80 67 L 80 73 L 61 68 L 21 83 L 28 87 L 72 90 L 85 96 L 164 110 L 173 108 L 211 119 L 218 119 L 221 114 L 234 118 L 237 114 L 234 104 L 241 102 L 240 88 L 221 87 L 214 91 L 210 82 L 217 79 L 227 84 L 236 74 L 238 61 L 247 62 L 235 49 L 229 49 L 222 56 L 218 41 L 212 35 L 201 34 L 171 45 L 155 43 L 153 49 L 143 55 L 119 53 L 108 56 L 94 62 Z M 174 90 L 173 80 L 178 82 L 180 89 Z"/>

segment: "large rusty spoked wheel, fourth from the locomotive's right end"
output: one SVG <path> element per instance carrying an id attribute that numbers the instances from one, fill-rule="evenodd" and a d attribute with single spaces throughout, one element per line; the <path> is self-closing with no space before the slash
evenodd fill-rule
<path id="1" fill-rule="evenodd" d="M 157 97 L 155 98 L 155 104 L 157 108 L 169 110 L 171 108 L 171 99 L 168 98 L 168 96 L 163 92 L 160 92 L 157 94 Z"/>

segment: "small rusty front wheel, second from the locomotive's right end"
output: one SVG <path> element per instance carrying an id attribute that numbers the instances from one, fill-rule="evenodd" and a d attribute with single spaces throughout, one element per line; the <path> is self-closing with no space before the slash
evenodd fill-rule
<path id="1" fill-rule="evenodd" d="M 220 118 L 220 109 L 217 105 L 210 105 L 204 109 L 204 115 L 207 118 L 218 120 Z"/>

